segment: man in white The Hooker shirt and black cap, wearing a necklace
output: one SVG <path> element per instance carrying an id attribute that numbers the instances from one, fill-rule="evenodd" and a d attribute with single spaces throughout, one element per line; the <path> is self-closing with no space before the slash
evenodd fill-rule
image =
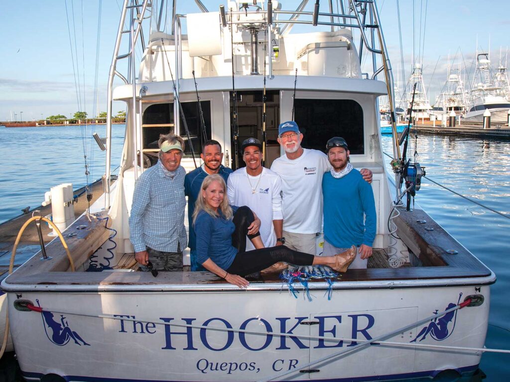
<path id="1" fill-rule="evenodd" d="M 282 245 L 282 181 L 278 174 L 262 167 L 262 143 L 248 138 L 241 146 L 246 167 L 234 171 L 227 182 L 228 202 L 248 206 L 261 221 L 260 234 L 265 247 Z M 249 239 L 246 251 L 254 250 Z"/>

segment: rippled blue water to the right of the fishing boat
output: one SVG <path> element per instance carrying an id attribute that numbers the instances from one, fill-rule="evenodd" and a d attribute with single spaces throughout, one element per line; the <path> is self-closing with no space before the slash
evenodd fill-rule
<path id="1" fill-rule="evenodd" d="M 413 154 L 414 141 L 410 143 Z M 382 138 L 385 152 L 393 152 L 391 145 L 391 137 Z M 510 142 L 421 135 L 418 137 L 417 151 L 418 162 L 426 167 L 428 178 L 510 216 Z M 491 286 L 486 347 L 510 349 L 510 306 L 507 304 L 510 220 L 466 201 L 427 179 L 422 180 L 416 201 L 495 272 L 498 280 Z M 506 380 L 510 375 L 510 354 L 485 353 L 480 368 L 487 374 L 485 380 Z"/>

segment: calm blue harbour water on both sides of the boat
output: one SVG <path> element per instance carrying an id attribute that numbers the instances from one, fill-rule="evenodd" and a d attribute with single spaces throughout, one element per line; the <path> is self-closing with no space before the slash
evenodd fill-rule
<path id="1" fill-rule="evenodd" d="M 86 133 L 87 156 L 93 159 L 91 180 L 105 171 L 105 153 L 89 138 L 93 128 L 89 126 Z M 100 137 L 105 136 L 104 125 L 95 129 Z M 119 165 L 123 135 L 124 125 L 114 125 L 112 170 Z M 85 185 L 81 137 L 80 127 L 0 127 L 0 157 L 5 163 L 0 174 L 0 222 L 18 215 L 24 207 L 39 206 L 53 185 L 71 182 L 74 189 Z M 385 136 L 382 141 L 384 150 L 391 153 L 391 138 Z M 90 145 L 94 145 L 93 158 Z M 414 142 L 411 146 L 413 152 Z M 510 216 L 510 142 L 422 135 L 417 148 L 418 161 L 426 167 L 427 177 Z M 510 348 L 510 220 L 427 179 L 416 202 L 496 273 L 486 346 Z M 480 367 L 488 376 L 485 380 L 506 380 L 510 356 L 486 353 Z"/>

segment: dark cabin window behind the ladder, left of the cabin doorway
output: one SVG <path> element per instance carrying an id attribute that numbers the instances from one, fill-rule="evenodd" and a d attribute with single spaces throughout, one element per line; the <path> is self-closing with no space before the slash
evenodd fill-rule
<path id="1" fill-rule="evenodd" d="M 202 132 L 200 125 L 200 111 L 198 102 L 181 102 L 184 116 L 188 124 L 188 129 L 195 151 L 195 157 L 199 157 L 202 152 Z M 202 107 L 203 119 L 205 121 L 207 139 L 211 139 L 211 102 L 200 101 Z M 173 103 L 156 103 L 146 108 L 143 113 L 143 149 L 147 151 L 158 151 L 158 139 L 160 134 L 168 134 L 174 131 Z M 181 116 L 181 137 L 186 142 L 184 157 L 191 157 L 191 147 Z M 154 164 L 154 163 L 153 163 Z"/>

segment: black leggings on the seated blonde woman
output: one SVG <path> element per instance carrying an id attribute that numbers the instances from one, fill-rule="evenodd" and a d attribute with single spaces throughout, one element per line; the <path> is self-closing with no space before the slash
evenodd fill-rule
<path id="1" fill-rule="evenodd" d="M 278 261 L 285 261 L 296 265 L 313 264 L 313 255 L 293 251 L 284 245 L 246 252 L 246 236 L 249 239 L 260 236 L 260 233 L 254 235 L 247 234 L 248 226 L 253 220 L 253 213 L 246 206 L 239 207 L 234 214 L 233 223 L 236 225 L 236 230 L 232 234 L 232 245 L 237 248 L 238 253 L 234 258 L 234 262 L 226 269 L 228 273 L 246 276 L 265 269 Z"/>

